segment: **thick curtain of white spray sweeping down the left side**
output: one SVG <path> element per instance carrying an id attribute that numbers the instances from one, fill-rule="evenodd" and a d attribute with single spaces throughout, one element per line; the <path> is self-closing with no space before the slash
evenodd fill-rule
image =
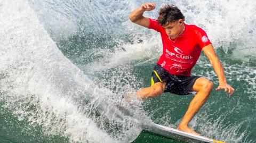
<path id="1" fill-rule="evenodd" d="M 138 136 L 138 122 L 115 109 L 116 95 L 62 55 L 28 2 L 1 2 L 0 19 L 3 107 L 72 142 L 130 142 Z"/>

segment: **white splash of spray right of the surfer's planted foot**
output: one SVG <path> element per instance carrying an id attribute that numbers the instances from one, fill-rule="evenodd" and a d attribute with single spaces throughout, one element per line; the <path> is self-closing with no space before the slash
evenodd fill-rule
<path id="1" fill-rule="evenodd" d="M 247 122 L 251 121 L 224 123 L 223 121 L 225 121 L 227 115 L 221 114 L 217 119 L 212 119 L 211 115 L 218 115 L 218 113 L 213 111 L 213 113 L 209 114 L 209 112 L 204 111 L 203 113 L 200 112 L 200 114 L 197 114 L 190 122 L 190 127 L 193 129 L 197 127 L 203 136 L 225 142 L 241 142 L 245 139 L 248 132 L 246 130 L 241 132 L 241 127 L 245 127 Z"/>

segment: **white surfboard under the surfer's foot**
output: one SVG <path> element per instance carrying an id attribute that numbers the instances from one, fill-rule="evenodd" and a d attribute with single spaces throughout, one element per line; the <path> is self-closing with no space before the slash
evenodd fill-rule
<path id="1" fill-rule="evenodd" d="M 223 141 L 214 140 L 206 138 L 203 136 L 197 136 L 188 132 L 183 132 L 171 127 L 166 127 L 164 125 L 159 125 L 155 123 L 144 124 L 143 129 L 149 132 L 159 134 L 164 137 L 168 137 L 175 140 L 185 141 L 185 142 L 210 142 L 210 143 L 225 143 Z"/>

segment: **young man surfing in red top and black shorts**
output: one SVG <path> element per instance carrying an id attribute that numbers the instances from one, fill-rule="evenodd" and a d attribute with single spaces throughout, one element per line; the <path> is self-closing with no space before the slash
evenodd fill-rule
<path id="1" fill-rule="evenodd" d="M 159 10 L 157 19 L 143 16 L 152 11 L 154 3 L 142 4 L 134 10 L 129 19 L 140 26 L 154 29 L 161 34 L 163 54 L 157 61 L 151 74 L 151 86 L 136 92 L 138 99 L 157 97 L 163 92 L 188 95 L 196 92 L 183 116 L 178 130 L 197 134 L 188 127 L 196 112 L 204 105 L 213 88 L 213 82 L 204 77 L 191 76 L 200 54 L 204 51 L 219 79 L 216 90 L 224 89 L 231 96 L 234 88 L 228 85 L 222 65 L 214 52 L 211 41 L 205 31 L 195 25 L 185 23 L 185 16 L 177 6 L 165 5 Z"/>

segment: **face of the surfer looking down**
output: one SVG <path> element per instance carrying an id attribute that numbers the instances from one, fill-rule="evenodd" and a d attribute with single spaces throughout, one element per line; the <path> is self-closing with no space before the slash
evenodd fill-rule
<path id="1" fill-rule="evenodd" d="M 163 28 L 165 29 L 165 32 L 169 38 L 175 39 L 180 35 L 180 33 L 182 33 L 182 21 L 177 20 L 175 22 L 166 23 Z"/>

